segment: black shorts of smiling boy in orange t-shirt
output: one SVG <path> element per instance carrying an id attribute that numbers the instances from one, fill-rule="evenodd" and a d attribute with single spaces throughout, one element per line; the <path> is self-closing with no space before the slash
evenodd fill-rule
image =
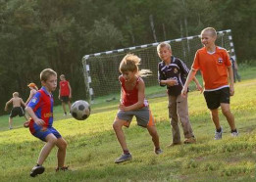
<path id="1" fill-rule="evenodd" d="M 218 109 L 221 103 L 230 104 L 230 87 L 215 91 L 204 91 L 204 98 L 207 108 L 210 110 Z"/>

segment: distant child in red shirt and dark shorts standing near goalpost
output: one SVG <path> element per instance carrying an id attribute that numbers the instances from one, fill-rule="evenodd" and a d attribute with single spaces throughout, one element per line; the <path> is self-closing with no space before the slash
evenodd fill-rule
<path id="1" fill-rule="evenodd" d="M 60 89 L 59 89 L 59 99 L 62 101 L 62 107 L 64 111 L 64 115 L 67 115 L 66 104 L 69 106 L 69 110 L 71 113 L 71 98 L 72 98 L 72 88 L 70 82 L 66 80 L 65 75 L 62 74 L 60 76 Z"/>

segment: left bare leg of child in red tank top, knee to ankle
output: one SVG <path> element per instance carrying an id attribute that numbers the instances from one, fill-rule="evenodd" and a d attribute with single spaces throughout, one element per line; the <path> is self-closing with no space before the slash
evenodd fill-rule
<path id="1" fill-rule="evenodd" d="M 126 142 L 126 137 L 124 134 L 124 131 L 122 129 L 123 125 L 126 123 L 126 120 L 121 120 L 119 118 L 116 118 L 116 120 L 113 123 L 113 129 L 116 132 L 116 136 L 118 138 L 118 141 L 123 149 L 123 151 L 128 151 L 128 146 Z"/>

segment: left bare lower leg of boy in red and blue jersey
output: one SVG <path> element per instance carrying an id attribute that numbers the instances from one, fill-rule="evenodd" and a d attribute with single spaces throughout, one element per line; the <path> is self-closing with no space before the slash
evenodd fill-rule
<path id="1" fill-rule="evenodd" d="M 43 146 L 43 148 L 40 152 L 39 158 L 37 160 L 37 163 L 39 165 L 42 165 L 44 160 L 49 156 L 51 150 L 56 145 L 57 138 L 51 133 L 46 136 L 46 142 L 47 143 Z"/>

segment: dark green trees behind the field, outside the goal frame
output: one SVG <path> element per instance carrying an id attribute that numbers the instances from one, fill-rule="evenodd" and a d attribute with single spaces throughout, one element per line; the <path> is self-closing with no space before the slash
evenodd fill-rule
<path id="1" fill-rule="evenodd" d="M 238 62 L 253 60 L 255 14 L 254 0 L 0 0 L 1 108 L 15 91 L 26 100 L 26 85 L 40 86 L 43 68 L 66 74 L 74 100 L 82 99 L 82 56 L 196 35 L 207 26 L 231 29 Z"/>

